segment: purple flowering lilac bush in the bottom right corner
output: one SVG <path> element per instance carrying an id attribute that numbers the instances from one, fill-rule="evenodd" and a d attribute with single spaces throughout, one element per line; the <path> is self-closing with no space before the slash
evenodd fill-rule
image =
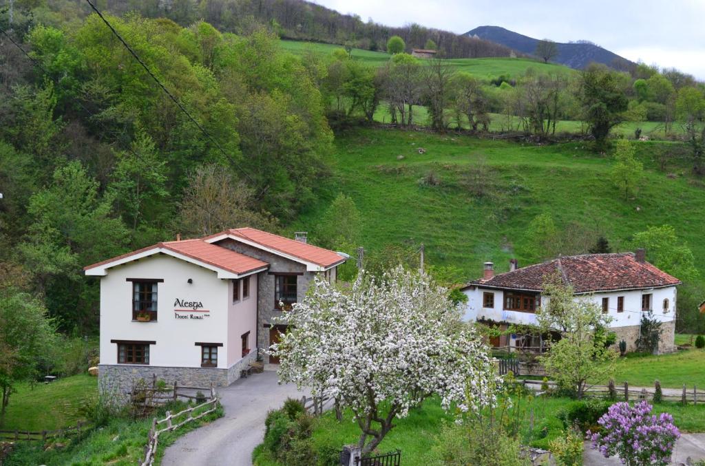
<path id="1" fill-rule="evenodd" d="M 605 458 L 617 455 L 627 466 L 668 465 L 680 432 L 673 416 L 667 412 L 651 415 L 651 408 L 646 401 L 634 407 L 629 403 L 612 405 L 598 421 L 603 433 L 587 431 L 592 448 Z"/>

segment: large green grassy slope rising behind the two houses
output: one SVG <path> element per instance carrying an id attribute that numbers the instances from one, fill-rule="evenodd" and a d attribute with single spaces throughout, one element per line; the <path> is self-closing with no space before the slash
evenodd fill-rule
<path id="1" fill-rule="evenodd" d="M 314 231 L 333 197 L 345 192 L 362 212 L 364 247 L 424 243 L 430 262 L 458 266 L 467 278 L 479 276 L 486 260 L 500 271 L 511 257 L 526 264 L 525 231 L 543 212 L 558 228 L 580 223 L 623 249 L 633 233 L 670 223 L 696 257 L 705 254 L 705 218 L 697 214 L 705 202 L 703 184 L 682 175 L 685 165 L 668 166 L 666 172 L 678 173 L 669 178 L 653 160 L 658 152 L 675 154 L 678 146 L 637 143 L 646 178 L 637 199 L 625 201 L 610 181 L 611 159 L 581 144 L 355 130 L 336 138 L 326 195 L 294 227 Z M 419 154 L 419 147 L 427 152 Z M 437 185 L 424 183 L 429 173 Z"/>

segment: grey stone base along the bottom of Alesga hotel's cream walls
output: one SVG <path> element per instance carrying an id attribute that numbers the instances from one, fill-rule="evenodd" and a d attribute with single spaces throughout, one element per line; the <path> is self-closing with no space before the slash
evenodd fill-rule
<path id="1" fill-rule="evenodd" d="M 240 379 L 240 371 L 256 358 L 257 352 L 252 351 L 228 369 L 99 364 L 98 387 L 101 393 L 111 393 L 118 398 L 123 398 L 130 393 L 135 384 L 139 383 L 140 379 L 147 384 L 152 384 L 155 376 L 157 380 L 165 381 L 167 386 L 173 385 L 174 381 L 181 386 L 228 386 Z"/>

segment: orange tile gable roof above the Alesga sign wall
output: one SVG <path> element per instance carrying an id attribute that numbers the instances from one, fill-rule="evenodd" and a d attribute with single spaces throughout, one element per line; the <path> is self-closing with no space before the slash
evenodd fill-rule
<path id="1" fill-rule="evenodd" d="M 210 264 L 219 269 L 223 269 L 233 274 L 246 274 L 247 272 L 254 271 L 257 269 L 262 269 L 263 267 L 269 266 L 266 262 L 263 262 L 254 257 L 246 256 L 240 254 L 239 252 L 231 251 L 226 247 L 212 245 L 206 243 L 204 240 L 183 240 L 183 241 L 166 241 L 164 243 L 157 243 L 156 245 L 143 247 L 140 250 L 128 252 L 118 257 L 113 257 L 112 259 L 107 259 L 97 264 L 92 264 L 83 267 L 84 270 L 92 269 L 94 267 L 108 264 L 109 262 L 114 262 L 125 257 L 130 257 L 137 255 L 140 252 L 145 252 L 156 247 L 161 247 L 166 250 L 171 250 L 177 252 L 178 254 L 188 256 L 192 259 L 196 259 L 200 262 Z"/>

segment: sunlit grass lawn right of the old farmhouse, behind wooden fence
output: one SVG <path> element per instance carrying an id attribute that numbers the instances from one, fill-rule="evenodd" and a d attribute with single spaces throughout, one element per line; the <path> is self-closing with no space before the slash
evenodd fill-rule
<path id="1" fill-rule="evenodd" d="M 705 388 L 705 350 L 683 350 L 670 355 L 631 353 L 617 362 L 615 382 L 628 381 L 632 386 L 654 386 L 654 380 L 668 388 Z"/>

